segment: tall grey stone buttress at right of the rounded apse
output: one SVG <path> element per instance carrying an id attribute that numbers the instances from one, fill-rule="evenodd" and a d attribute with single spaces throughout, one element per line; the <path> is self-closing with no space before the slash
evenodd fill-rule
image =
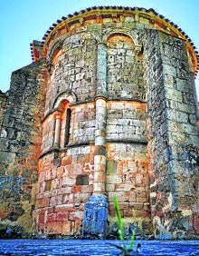
<path id="1" fill-rule="evenodd" d="M 147 36 L 147 37 L 145 37 Z M 175 238 L 197 233 L 196 162 L 188 171 L 185 148 L 198 148 L 194 74 L 185 42 L 171 35 L 147 31 L 144 35 L 147 81 L 147 137 L 151 214 L 156 237 Z M 188 102 L 190 104 L 188 104 Z M 194 220 L 194 221 L 193 221 Z"/>

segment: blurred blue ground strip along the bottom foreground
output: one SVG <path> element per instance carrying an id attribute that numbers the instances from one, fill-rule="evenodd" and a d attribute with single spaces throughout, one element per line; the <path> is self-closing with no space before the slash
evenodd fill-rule
<path id="1" fill-rule="evenodd" d="M 129 244 L 130 241 L 127 241 Z M 137 244 L 141 244 L 140 251 Z M 122 255 L 113 240 L 0 240 L 0 255 Z M 199 256 L 199 241 L 135 241 L 131 255 L 189 255 Z"/>

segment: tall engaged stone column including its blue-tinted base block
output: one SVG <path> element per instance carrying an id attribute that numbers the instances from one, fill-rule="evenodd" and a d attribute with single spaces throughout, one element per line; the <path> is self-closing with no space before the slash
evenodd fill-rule
<path id="1" fill-rule="evenodd" d="M 83 238 L 106 238 L 108 202 L 106 192 L 107 47 L 98 44 L 96 130 L 93 195 L 85 204 Z"/>

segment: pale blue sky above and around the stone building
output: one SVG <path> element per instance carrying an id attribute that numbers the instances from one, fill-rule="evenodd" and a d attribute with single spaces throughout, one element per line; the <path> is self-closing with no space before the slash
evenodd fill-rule
<path id="1" fill-rule="evenodd" d="M 153 8 L 188 34 L 199 51 L 199 0 L 0 0 L 0 90 L 9 89 L 12 72 L 32 63 L 30 44 L 42 41 L 57 19 L 100 5 Z M 199 100 L 199 74 L 195 84 Z"/>

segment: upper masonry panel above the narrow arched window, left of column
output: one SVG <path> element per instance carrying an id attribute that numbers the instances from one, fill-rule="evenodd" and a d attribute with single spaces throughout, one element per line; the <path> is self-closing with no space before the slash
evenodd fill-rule
<path id="1" fill-rule="evenodd" d="M 47 86 L 47 98 L 51 100 L 46 102 L 46 113 L 52 110 L 56 97 L 64 92 L 72 91 L 80 102 L 93 99 L 96 92 L 97 44 L 90 32 L 60 40 L 62 51 L 54 56 Z"/>

